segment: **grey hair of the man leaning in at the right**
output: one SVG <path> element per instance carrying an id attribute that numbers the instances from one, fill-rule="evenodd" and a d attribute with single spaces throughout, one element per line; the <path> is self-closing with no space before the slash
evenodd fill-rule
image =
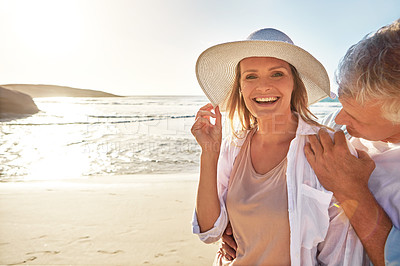
<path id="1" fill-rule="evenodd" d="M 400 19 L 351 46 L 336 80 L 340 97 L 380 104 L 386 119 L 400 123 Z"/>

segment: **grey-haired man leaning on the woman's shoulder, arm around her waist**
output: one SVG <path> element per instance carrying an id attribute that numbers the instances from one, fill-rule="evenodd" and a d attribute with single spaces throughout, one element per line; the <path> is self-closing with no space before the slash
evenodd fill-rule
<path id="1" fill-rule="evenodd" d="M 325 122 L 337 129 L 336 115 L 358 158 L 349 152 L 343 131 L 331 140 L 321 130 L 319 139 L 309 137 L 304 152 L 321 184 L 340 202 L 371 262 L 400 265 L 400 19 L 350 47 L 338 83 L 343 107 Z M 227 228 L 223 248 L 234 257 L 229 235 Z"/>

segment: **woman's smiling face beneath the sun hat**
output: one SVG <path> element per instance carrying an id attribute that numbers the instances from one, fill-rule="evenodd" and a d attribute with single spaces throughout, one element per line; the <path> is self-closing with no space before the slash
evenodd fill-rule
<path id="1" fill-rule="evenodd" d="M 294 87 L 289 64 L 273 57 L 240 61 L 240 88 L 250 113 L 257 117 L 288 115 Z"/>

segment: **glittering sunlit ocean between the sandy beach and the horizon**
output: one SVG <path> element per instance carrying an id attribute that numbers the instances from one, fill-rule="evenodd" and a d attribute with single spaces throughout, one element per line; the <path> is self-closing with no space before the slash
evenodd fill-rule
<path id="1" fill-rule="evenodd" d="M 204 96 L 34 101 L 39 113 L 0 119 L 0 181 L 198 171 L 190 128 Z M 324 100 L 311 111 L 321 118 L 338 107 Z"/>

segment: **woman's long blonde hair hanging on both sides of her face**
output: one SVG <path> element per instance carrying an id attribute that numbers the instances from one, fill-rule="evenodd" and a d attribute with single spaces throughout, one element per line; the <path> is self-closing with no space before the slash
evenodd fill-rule
<path id="1" fill-rule="evenodd" d="M 293 76 L 293 91 L 290 100 L 290 109 L 292 112 L 297 112 L 299 116 L 306 122 L 312 125 L 322 126 L 315 121 L 316 117 L 307 107 L 308 96 L 307 90 L 303 81 L 300 78 L 296 68 L 289 64 Z M 240 122 L 239 131 L 249 130 L 258 125 L 257 118 L 253 116 L 247 109 L 242 93 L 240 92 L 240 62 L 236 66 L 236 76 L 233 83 L 233 88 L 227 101 L 228 118 L 230 120 L 233 134 L 238 137 L 237 128 L 235 128 L 235 118 Z"/>

